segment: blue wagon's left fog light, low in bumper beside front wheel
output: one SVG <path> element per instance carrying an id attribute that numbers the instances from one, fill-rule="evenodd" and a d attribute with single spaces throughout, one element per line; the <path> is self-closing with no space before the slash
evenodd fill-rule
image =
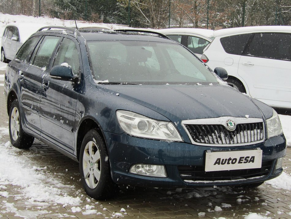
<path id="1" fill-rule="evenodd" d="M 167 177 L 166 170 L 163 165 L 134 164 L 130 167 L 129 172 L 143 176 Z"/>

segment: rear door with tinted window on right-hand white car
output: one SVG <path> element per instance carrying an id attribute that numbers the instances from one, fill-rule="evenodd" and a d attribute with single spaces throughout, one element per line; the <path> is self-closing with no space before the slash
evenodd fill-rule
<path id="1" fill-rule="evenodd" d="M 250 95 L 291 108 L 291 34 L 255 33 L 239 61 Z"/>

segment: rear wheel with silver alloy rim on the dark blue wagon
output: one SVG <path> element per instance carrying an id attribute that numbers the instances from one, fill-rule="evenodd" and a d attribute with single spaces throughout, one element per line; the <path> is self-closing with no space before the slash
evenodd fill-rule
<path id="1" fill-rule="evenodd" d="M 18 100 L 14 100 L 9 112 L 9 136 L 14 147 L 28 149 L 32 146 L 34 137 L 26 134 L 22 129 L 21 114 Z"/>

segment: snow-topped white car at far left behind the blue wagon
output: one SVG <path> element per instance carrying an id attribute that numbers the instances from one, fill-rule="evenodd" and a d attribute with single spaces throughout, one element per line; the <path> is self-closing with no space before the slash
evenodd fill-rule
<path id="1" fill-rule="evenodd" d="M 36 23 L 7 24 L 1 39 L 1 61 L 9 62 L 14 59 L 18 49 L 28 37 L 43 26 L 45 25 Z"/>

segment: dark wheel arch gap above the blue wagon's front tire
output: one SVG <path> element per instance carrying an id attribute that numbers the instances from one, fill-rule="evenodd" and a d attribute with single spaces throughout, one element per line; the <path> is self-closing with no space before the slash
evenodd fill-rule
<path id="1" fill-rule="evenodd" d="M 86 133 L 94 128 L 98 131 L 101 138 L 103 138 L 103 140 L 106 144 L 106 141 L 104 139 L 104 135 L 101 131 L 101 128 L 99 127 L 98 122 L 94 118 L 91 118 L 91 117 L 84 118 L 81 121 L 79 128 L 78 128 L 78 132 L 77 132 L 76 152 L 77 152 L 77 159 L 78 160 L 80 157 L 80 150 L 81 150 L 82 141 L 83 141 Z"/>

